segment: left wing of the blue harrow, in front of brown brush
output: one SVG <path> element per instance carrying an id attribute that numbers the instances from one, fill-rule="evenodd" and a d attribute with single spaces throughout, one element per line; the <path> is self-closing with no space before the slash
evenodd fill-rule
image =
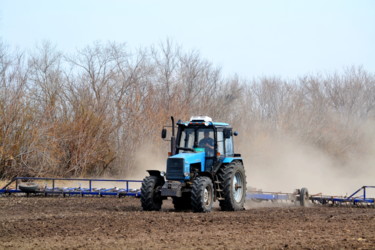
<path id="1" fill-rule="evenodd" d="M 41 194 L 63 196 L 140 196 L 137 180 L 114 179 L 81 179 L 81 178 L 41 178 L 41 177 L 15 177 L 2 189 L 0 194 Z M 58 184 L 76 183 L 78 187 L 58 187 Z M 119 187 L 99 188 L 99 185 Z M 137 186 L 138 184 L 138 186 Z M 68 184 L 69 185 L 69 184 Z M 72 184 L 70 184 L 72 185 Z M 13 187 L 13 188 L 10 188 Z"/>

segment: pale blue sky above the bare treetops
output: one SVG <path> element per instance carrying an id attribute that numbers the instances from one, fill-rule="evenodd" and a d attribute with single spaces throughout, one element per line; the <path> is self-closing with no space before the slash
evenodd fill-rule
<path id="1" fill-rule="evenodd" d="M 241 78 L 375 70 L 373 0 L 0 0 L 0 39 L 63 52 L 170 39 Z"/>

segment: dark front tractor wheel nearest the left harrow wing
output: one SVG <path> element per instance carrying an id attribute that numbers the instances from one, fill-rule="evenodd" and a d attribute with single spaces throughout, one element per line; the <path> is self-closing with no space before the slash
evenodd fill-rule
<path id="1" fill-rule="evenodd" d="M 141 203 L 144 211 L 159 211 L 163 203 L 161 187 L 163 179 L 157 176 L 147 176 L 141 187 Z"/>

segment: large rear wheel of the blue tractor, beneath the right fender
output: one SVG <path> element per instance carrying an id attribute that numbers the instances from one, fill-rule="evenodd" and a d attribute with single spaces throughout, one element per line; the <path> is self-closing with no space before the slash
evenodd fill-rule
<path id="1" fill-rule="evenodd" d="M 246 175 L 241 162 L 223 166 L 219 172 L 222 200 L 219 201 L 223 211 L 244 210 L 246 199 Z"/>

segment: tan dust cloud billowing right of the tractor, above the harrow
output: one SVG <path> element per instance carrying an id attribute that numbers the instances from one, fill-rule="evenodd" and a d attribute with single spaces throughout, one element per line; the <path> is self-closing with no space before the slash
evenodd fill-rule
<path id="1" fill-rule="evenodd" d="M 306 187 L 310 194 L 326 195 L 350 195 L 364 185 L 375 185 L 375 122 L 360 129 L 364 138 L 360 150 L 347 161 L 286 134 L 261 133 L 241 140 L 238 149 L 244 158 L 247 185 L 289 193 Z M 370 197 L 375 197 L 374 191 L 369 190 Z"/>

